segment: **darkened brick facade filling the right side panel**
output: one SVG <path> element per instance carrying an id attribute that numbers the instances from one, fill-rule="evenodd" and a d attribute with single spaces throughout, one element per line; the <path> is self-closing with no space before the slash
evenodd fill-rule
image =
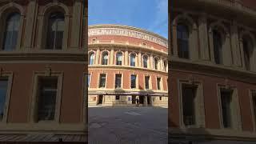
<path id="1" fill-rule="evenodd" d="M 256 140 L 255 6 L 253 0 L 173 3 L 171 138 Z"/>

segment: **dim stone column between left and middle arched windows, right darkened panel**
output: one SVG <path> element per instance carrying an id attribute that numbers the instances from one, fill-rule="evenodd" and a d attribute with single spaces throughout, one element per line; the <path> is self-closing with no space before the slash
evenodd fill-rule
<path id="1" fill-rule="evenodd" d="M 199 40 L 200 40 L 200 57 L 202 60 L 210 60 L 209 55 L 209 41 L 208 41 L 208 32 L 207 32 L 207 19 L 206 14 L 198 20 L 199 23 Z"/>

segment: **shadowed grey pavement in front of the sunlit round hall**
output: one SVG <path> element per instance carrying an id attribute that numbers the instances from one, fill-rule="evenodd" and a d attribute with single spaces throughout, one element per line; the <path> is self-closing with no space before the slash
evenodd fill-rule
<path id="1" fill-rule="evenodd" d="M 167 144 L 161 107 L 90 107 L 89 144 Z"/>

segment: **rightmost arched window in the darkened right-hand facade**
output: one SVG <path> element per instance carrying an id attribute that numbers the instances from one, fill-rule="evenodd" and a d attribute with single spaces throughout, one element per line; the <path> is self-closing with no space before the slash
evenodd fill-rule
<path id="1" fill-rule="evenodd" d="M 242 46 L 243 46 L 243 56 L 244 56 L 244 61 L 245 61 L 245 67 L 246 70 L 250 70 L 250 57 L 251 54 L 253 53 L 253 44 L 250 41 L 250 38 L 244 37 L 242 39 Z"/>

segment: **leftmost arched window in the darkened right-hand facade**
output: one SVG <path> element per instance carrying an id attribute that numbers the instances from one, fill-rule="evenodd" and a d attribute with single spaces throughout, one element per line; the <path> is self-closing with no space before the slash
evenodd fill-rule
<path id="1" fill-rule="evenodd" d="M 178 58 L 190 58 L 189 53 L 189 29 L 187 26 L 178 24 L 177 26 L 177 46 Z"/>

